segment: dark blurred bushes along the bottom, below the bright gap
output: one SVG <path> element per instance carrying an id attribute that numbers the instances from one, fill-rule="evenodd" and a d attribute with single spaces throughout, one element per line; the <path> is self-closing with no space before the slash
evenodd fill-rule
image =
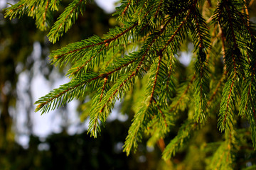
<path id="1" fill-rule="evenodd" d="M 63 131 L 53 134 L 41 141 L 36 136 L 30 137 L 28 149 L 13 145 L 1 169 L 157 169 L 161 152 L 149 152 L 142 148 L 132 157 L 122 152 L 129 125 L 114 120 L 102 130 L 97 141 L 82 132 L 68 135 Z M 111 132 L 110 132 L 111 131 Z M 121 143 L 121 145 L 120 145 Z M 144 157 L 144 159 L 139 159 Z"/>

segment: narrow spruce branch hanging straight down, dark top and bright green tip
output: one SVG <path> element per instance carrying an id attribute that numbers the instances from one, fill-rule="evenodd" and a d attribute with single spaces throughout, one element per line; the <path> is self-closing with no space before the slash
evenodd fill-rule
<path id="1" fill-rule="evenodd" d="M 195 49 L 198 50 L 197 52 L 197 60 L 195 63 L 195 70 L 196 70 L 196 91 L 195 91 L 195 98 L 196 98 L 196 112 L 194 115 L 194 119 L 197 122 L 202 122 L 206 120 L 206 109 L 208 108 L 207 100 L 208 100 L 208 67 L 206 65 L 206 52 L 207 48 L 210 46 L 208 35 L 207 25 L 204 21 L 204 18 L 196 8 L 196 5 L 191 8 L 191 17 L 194 20 L 194 24 L 191 23 L 191 32 L 193 35 L 193 42 L 196 46 Z"/>

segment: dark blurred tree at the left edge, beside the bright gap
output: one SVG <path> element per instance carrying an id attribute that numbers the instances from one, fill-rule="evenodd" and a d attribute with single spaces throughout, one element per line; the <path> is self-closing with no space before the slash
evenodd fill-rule
<path id="1" fill-rule="evenodd" d="M 3 16 L 4 14 L 1 13 L 2 18 Z M 1 20 L 0 148 L 9 147 L 7 142 L 14 142 L 14 132 L 11 129 L 12 118 L 9 111 L 16 105 L 16 83 L 18 80 L 16 68 L 18 64 L 22 64 L 22 70 L 31 68 L 31 62 L 27 62 L 27 59 L 33 51 L 34 38 L 38 32 L 33 25 L 33 21 L 28 17 L 24 17 L 21 21 Z"/>

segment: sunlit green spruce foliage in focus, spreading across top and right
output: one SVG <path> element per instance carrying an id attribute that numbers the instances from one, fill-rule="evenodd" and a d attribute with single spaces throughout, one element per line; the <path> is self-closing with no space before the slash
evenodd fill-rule
<path id="1" fill-rule="evenodd" d="M 6 17 L 32 16 L 39 29 L 48 30 L 59 3 L 18 1 L 6 8 Z M 86 10 L 86 3 L 70 2 L 50 28 L 50 42 L 68 31 Z M 55 66 L 71 64 L 70 82 L 39 98 L 36 111 L 48 113 L 75 98 L 88 102 L 90 108 L 83 114 L 90 115 L 89 133 L 97 137 L 101 123 L 120 100 L 125 113 L 134 113 L 124 152 L 135 151 L 145 136 L 150 146 L 166 139 L 166 160 L 189 146 L 193 134 L 218 119 L 216 128 L 225 139 L 207 144 L 218 146 L 208 169 L 235 168 L 242 147 L 256 149 L 256 34 L 249 3 L 121 1 L 115 13 L 119 26 L 102 38 L 95 35 L 50 53 Z M 184 72 L 179 57 L 191 42 L 192 60 Z M 85 100 L 87 96 L 91 101 Z M 184 115 L 176 136 L 167 141 Z"/>

